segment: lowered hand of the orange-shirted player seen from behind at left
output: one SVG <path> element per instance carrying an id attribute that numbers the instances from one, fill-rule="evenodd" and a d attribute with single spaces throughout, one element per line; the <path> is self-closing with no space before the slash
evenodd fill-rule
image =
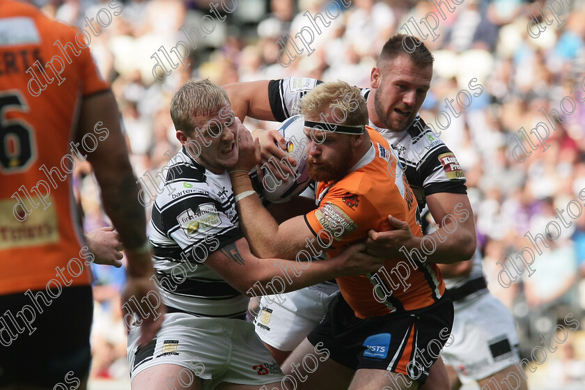
<path id="1" fill-rule="evenodd" d="M 124 324 L 127 331 L 140 327 L 140 345 L 146 345 L 155 338 L 166 312 L 152 276 L 153 272 L 144 276 L 128 275 L 122 290 Z"/>

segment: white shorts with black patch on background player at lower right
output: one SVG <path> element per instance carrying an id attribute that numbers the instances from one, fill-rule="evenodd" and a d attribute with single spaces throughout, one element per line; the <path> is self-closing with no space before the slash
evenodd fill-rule
<path id="1" fill-rule="evenodd" d="M 510 311 L 489 292 L 453 302 L 453 343 L 443 348 L 445 364 L 465 384 L 490 377 L 519 361 L 518 334 Z"/>

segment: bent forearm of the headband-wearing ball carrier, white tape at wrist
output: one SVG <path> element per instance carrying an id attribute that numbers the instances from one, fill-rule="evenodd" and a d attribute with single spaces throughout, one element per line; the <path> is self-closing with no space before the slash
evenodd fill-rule
<path id="1" fill-rule="evenodd" d="M 253 191 L 247 174 L 242 172 L 230 175 L 233 193 L 242 194 Z M 248 243 L 256 256 L 260 258 L 294 258 L 295 253 L 289 256 L 288 251 L 283 250 L 279 244 L 279 224 L 274 217 L 264 208 L 257 194 L 242 198 L 236 203 L 237 215 L 240 217 L 240 226 Z"/>

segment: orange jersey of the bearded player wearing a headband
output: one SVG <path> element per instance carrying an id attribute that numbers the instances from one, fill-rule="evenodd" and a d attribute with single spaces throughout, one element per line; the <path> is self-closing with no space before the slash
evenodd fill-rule
<path id="1" fill-rule="evenodd" d="M 333 237 L 329 257 L 349 244 L 364 241 L 370 229 L 391 230 L 388 214 L 407 221 L 414 235 L 422 235 L 416 222 L 414 194 L 398 159 L 378 132 L 366 129 L 372 141 L 368 153 L 338 182 L 319 182 L 318 208 L 305 216 L 315 235 L 325 230 Z M 445 291 L 439 267 L 415 259 L 390 258 L 374 274 L 344 276 L 337 283 L 359 318 L 421 309 L 437 302 Z"/>

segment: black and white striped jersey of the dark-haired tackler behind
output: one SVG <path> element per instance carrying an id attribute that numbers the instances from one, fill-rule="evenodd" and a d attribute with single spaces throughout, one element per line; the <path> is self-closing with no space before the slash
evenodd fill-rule
<path id="1" fill-rule="evenodd" d="M 297 114 L 299 100 L 321 83 L 322 81 L 318 79 L 308 77 L 271 80 L 268 84 L 268 96 L 274 118 L 282 122 Z M 361 95 L 367 101 L 370 89 L 361 88 Z M 370 126 L 387 139 L 398 156 L 419 203 L 419 210 L 423 210 L 426 196 L 430 194 L 439 192 L 467 194 L 465 175 L 457 158 L 418 114 L 402 132 L 377 127 L 371 120 Z"/>

